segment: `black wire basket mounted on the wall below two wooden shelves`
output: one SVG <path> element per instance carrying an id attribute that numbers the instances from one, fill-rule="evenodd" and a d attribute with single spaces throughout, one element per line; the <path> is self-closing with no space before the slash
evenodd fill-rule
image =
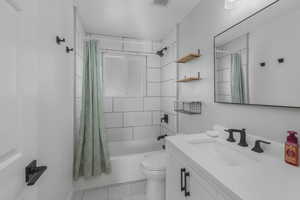
<path id="1" fill-rule="evenodd" d="M 174 111 L 195 115 L 201 114 L 202 103 L 200 101 L 175 101 Z"/>

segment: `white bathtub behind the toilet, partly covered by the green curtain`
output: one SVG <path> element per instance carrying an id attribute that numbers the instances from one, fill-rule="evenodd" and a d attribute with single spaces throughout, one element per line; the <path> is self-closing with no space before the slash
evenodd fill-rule
<path id="1" fill-rule="evenodd" d="M 112 172 L 109 175 L 80 179 L 74 183 L 75 190 L 86 190 L 113 184 L 144 180 L 140 170 L 140 163 L 145 156 L 161 151 L 162 144 L 156 140 L 137 140 L 127 142 L 110 142 Z"/>

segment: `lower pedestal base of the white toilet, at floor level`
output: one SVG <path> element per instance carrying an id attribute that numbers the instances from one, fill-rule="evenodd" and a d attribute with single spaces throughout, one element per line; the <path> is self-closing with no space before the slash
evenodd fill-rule
<path id="1" fill-rule="evenodd" d="M 148 179 L 146 183 L 146 200 L 165 200 L 165 180 Z"/>

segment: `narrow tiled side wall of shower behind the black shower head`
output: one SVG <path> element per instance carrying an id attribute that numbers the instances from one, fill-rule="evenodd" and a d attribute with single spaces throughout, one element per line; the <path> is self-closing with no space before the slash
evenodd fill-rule
<path id="1" fill-rule="evenodd" d="M 174 112 L 174 102 L 177 96 L 177 31 L 174 30 L 162 42 L 162 47 L 168 47 L 161 59 L 161 114 L 169 115 L 169 123 L 163 124 L 163 134 L 177 133 L 177 113 Z"/>

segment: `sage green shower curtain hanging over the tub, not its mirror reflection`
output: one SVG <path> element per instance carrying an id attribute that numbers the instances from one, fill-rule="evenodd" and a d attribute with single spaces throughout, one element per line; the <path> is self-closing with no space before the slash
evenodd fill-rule
<path id="1" fill-rule="evenodd" d="M 82 108 L 79 140 L 75 145 L 74 180 L 110 173 L 110 159 L 104 134 L 103 80 L 97 41 L 84 49 Z"/>

